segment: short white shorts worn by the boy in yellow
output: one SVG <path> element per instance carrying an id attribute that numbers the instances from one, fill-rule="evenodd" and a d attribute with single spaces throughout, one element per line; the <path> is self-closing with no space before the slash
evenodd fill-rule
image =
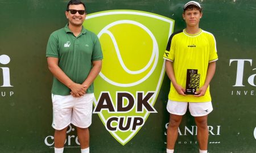
<path id="1" fill-rule="evenodd" d="M 189 112 L 192 116 L 205 116 L 213 111 L 212 102 L 201 102 L 201 103 L 188 103 L 180 101 L 168 100 L 167 111 L 171 114 L 184 115 L 189 108 Z"/>

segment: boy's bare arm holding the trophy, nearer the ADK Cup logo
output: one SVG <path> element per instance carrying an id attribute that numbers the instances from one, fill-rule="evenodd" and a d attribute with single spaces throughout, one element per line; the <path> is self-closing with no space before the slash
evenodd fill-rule
<path id="1" fill-rule="evenodd" d="M 174 85 L 175 90 L 177 91 L 178 94 L 185 96 L 184 92 L 184 88 L 181 87 L 179 84 L 177 84 L 176 79 L 175 79 L 175 75 L 174 75 L 174 68 L 172 66 L 172 62 L 166 60 L 166 73 L 168 75 L 168 77 L 170 78 L 172 85 Z"/>

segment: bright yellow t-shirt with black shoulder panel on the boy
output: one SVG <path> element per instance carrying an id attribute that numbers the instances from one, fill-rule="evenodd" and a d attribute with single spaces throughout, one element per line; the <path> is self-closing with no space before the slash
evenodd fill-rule
<path id="1" fill-rule="evenodd" d="M 212 33 L 202 29 L 196 35 L 190 35 L 183 29 L 172 33 L 163 58 L 173 62 L 176 82 L 183 88 L 186 86 L 187 69 L 197 69 L 200 74 L 200 88 L 207 76 L 208 63 L 218 60 L 216 41 Z M 168 99 L 186 102 L 211 101 L 209 87 L 204 96 L 183 96 L 176 92 L 172 83 Z"/>

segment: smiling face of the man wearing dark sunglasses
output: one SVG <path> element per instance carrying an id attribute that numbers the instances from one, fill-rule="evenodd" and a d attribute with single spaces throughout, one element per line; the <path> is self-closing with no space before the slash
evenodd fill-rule
<path id="1" fill-rule="evenodd" d="M 85 10 L 84 6 L 82 4 L 80 5 L 69 5 L 69 10 Z M 73 26 L 79 27 L 84 23 L 86 14 L 79 14 L 77 11 L 76 14 L 71 14 L 71 11 L 65 12 L 67 19 L 69 21 L 69 24 L 72 24 Z"/>

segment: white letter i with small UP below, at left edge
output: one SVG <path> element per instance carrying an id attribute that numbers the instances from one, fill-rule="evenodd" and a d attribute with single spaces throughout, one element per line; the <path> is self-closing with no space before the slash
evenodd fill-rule
<path id="1" fill-rule="evenodd" d="M 5 54 L 0 56 L 0 97 L 13 96 L 13 91 L 6 91 L 1 87 L 13 87 L 10 79 L 10 69 L 6 67 L 11 61 L 11 58 Z"/>

